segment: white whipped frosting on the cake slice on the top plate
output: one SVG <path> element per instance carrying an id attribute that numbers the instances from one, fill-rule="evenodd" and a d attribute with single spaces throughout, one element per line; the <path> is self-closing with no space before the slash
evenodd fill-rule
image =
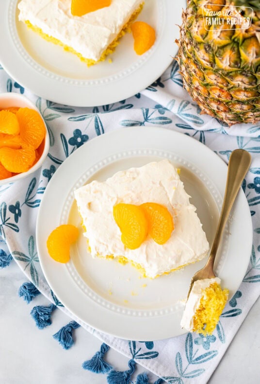
<path id="1" fill-rule="evenodd" d="M 71 0 L 21 0 L 19 20 L 30 21 L 87 59 L 98 60 L 143 0 L 112 0 L 109 7 L 72 16 Z"/>

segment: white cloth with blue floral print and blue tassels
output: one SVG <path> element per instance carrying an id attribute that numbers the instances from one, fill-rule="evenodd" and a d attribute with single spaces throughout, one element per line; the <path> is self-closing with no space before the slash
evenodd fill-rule
<path id="1" fill-rule="evenodd" d="M 260 126 L 234 125 L 231 128 L 206 115 L 182 88 L 176 62 L 150 87 L 121 102 L 79 108 L 58 105 L 33 95 L 0 69 L 0 91 L 26 95 L 37 105 L 48 126 L 49 155 L 42 168 L 25 180 L 0 187 L 0 266 L 7 266 L 12 258 L 23 271 L 25 283 L 20 296 L 27 302 L 39 293 L 48 299 L 47 306 L 34 307 L 32 315 L 39 328 L 51 324 L 51 312 L 56 308 L 72 317 L 67 327 L 56 334 L 64 348 L 73 343 L 73 332 L 81 325 L 103 342 L 100 352 L 83 368 L 107 374 L 110 384 L 130 383 L 135 362 L 167 383 L 206 383 L 224 355 L 244 317 L 260 295 Z M 234 297 L 227 303 L 220 322 L 211 336 L 187 333 L 175 338 L 154 341 L 126 341 L 97 332 L 70 314 L 50 290 L 41 271 L 35 245 L 35 223 L 45 188 L 59 165 L 86 141 L 113 129 L 127 126 L 159 125 L 199 140 L 224 161 L 236 148 L 252 155 L 252 164 L 244 180 L 243 189 L 251 209 L 253 221 L 252 255 L 244 280 Z M 27 280 L 27 281 L 28 281 Z M 108 346 L 128 356 L 129 367 L 124 373 L 105 362 Z M 90 356 L 91 357 L 91 356 Z M 95 367 L 96 364 L 96 367 Z M 163 380 L 162 380 L 163 379 Z M 148 383 L 146 374 L 139 375 L 137 384 Z"/>

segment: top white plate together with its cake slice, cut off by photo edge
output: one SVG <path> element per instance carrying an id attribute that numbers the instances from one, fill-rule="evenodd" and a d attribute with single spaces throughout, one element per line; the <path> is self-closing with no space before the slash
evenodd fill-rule
<path id="1" fill-rule="evenodd" d="M 106 0 L 96 10 L 73 2 L 0 2 L 0 62 L 40 97 L 75 106 L 124 100 L 160 77 L 178 51 L 185 0 Z M 136 21 L 145 27 L 132 33 Z"/>

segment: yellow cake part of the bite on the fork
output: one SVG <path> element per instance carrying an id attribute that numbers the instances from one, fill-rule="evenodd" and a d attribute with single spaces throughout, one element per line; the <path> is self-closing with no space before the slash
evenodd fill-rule
<path id="1" fill-rule="evenodd" d="M 193 318 L 193 332 L 212 334 L 227 303 L 228 289 L 214 282 L 203 292 Z"/>

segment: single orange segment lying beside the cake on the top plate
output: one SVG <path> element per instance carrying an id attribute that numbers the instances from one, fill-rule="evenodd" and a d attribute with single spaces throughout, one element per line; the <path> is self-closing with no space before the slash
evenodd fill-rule
<path id="1" fill-rule="evenodd" d="M 131 25 L 134 38 L 134 50 L 141 55 L 148 51 L 155 42 L 155 30 L 144 21 L 135 21 Z"/>

